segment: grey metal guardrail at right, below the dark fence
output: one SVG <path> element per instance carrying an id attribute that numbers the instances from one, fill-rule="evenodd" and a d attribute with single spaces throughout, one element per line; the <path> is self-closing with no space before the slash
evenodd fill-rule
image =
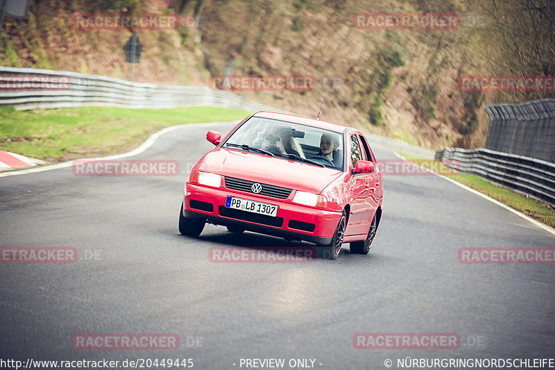
<path id="1" fill-rule="evenodd" d="M 555 207 L 555 163 L 483 148 L 445 148 L 436 159 Z"/>

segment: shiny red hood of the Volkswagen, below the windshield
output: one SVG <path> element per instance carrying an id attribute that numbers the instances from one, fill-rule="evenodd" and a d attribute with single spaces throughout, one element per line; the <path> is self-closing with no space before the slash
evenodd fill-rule
<path id="1" fill-rule="evenodd" d="M 343 172 L 308 163 L 234 149 L 207 153 L 200 171 L 320 194 Z"/>

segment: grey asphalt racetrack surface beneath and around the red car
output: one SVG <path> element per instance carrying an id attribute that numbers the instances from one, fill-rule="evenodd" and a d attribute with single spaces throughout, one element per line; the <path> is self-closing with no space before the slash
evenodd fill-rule
<path id="1" fill-rule="evenodd" d="M 283 358 L 386 369 L 389 358 L 397 369 L 399 358 L 555 357 L 555 265 L 457 259 L 466 247 L 554 248 L 554 235 L 437 176 L 384 177 L 368 255 L 345 244 L 336 261 L 212 262 L 214 246 L 288 244 L 216 226 L 198 239 L 178 233 L 186 172 L 213 147 L 208 127 L 170 131 L 133 157 L 177 160 L 178 176 L 74 176 L 67 167 L 0 178 L 0 246 L 78 255 L 0 264 L 1 359 L 189 358 L 194 369 L 245 369 L 241 358 Z M 75 349 L 83 333 L 173 333 L 180 348 Z M 359 349 L 357 333 L 456 333 L 460 344 Z"/>

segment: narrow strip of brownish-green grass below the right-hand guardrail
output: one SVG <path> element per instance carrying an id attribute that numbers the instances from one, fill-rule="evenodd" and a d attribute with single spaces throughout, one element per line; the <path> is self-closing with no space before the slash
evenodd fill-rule
<path id="1" fill-rule="evenodd" d="M 401 153 L 407 160 L 421 159 L 414 155 Z M 491 198 L 508 205 L 509 207 L 518 210 L 533 219 L 536 219 L 543 224 L 555 227 L 555 210 L 551 205 L 536 201 L 522 194 L 515 193 L 511 190 L 505 189 L 489 183 L 487 180 L 472 174 L 456 174 L 447 176 L 453 180 L 470 187 L 477 192 L 486 194 Z"/>

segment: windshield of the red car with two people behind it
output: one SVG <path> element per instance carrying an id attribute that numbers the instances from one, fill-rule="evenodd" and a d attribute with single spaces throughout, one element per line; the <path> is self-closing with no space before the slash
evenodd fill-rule
<path id="1" fill-rule="evenodd" d="M 343 135 L 322 128 L 250 117 L 223 146 L 343 171 Z"/>

